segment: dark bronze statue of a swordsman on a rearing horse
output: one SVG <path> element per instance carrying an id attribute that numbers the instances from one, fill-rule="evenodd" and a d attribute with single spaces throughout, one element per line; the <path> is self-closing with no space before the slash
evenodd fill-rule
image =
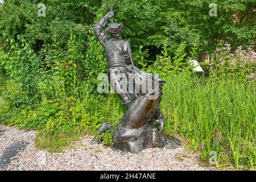
<path id="1" fill-rule="evenodd" d="M 127 107 L 114 132 L 114 148 L 138 153 L 144 148 L 178 147 L 178 139 L 162 135 L 165 120 L 159 104 L 165 81 L 134 66 L 130 43 L 121 38 L 124 26 L 113 18 L 113 11 L 103 16 L 94 33 L 106 49 L 110 85 Z M 111 23 L 103 32 L 108 19 Z"/>

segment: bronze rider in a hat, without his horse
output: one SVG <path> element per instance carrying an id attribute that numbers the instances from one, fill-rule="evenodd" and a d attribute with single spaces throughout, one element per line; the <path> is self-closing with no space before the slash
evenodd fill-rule
<path id="1" fill-rule="evenodd" d="M 121 38 L 123 24 L 119 23 L 110 23 L 110 26 L 106 28 L 106 31 L 103 32 L 107 24 L 107 19 L 114 17 L 113 11 L 107 13 L 103 18 L 94 27 L 94 33 L 98 37 L 99 42 L 106 49 L 106 59 L 109 66 L 109 78 L 111 87 L 118 93 L 121 97 L 122 103 L 126 107 L 131 105 L 131 97 L 128 93 L 127 79 L 125 76 L 126 68 L 132 64 L 133 54 L 131 52 L 130 43 Z M 110 38 L 107 37 L 107 34 L 110 35 Z M 123 73 L 123 74 L 120 74 Z M 123 79 L 117 77 L 117 75 L 123 75 Z"/>

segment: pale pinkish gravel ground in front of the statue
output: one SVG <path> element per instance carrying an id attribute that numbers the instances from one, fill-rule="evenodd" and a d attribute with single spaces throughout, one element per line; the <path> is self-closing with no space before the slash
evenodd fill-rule
<path id="1" fill-rule="evenodd" d="M 36 131 L 0 125 L 0 133 L 0 159 L 3 151 L 14 142 L 29 143 L 25 150 L 11 158 L 7 170 L 215 170 L 199 166 L 198 156 L 189 154 L 184 147 L 150 148 L 139 154 L 121 154 L 102 144 L 92 144 L 93 137 L 86 135 L 74 148 L 50 154 L 34 147 Z"/>

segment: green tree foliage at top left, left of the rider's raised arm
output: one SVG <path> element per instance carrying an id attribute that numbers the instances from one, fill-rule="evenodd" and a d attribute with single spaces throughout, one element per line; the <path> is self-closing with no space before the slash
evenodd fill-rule
<path id="1" fill-rule="evenodd" d="M 0 9 L 0 35 L 8 35 L 11 39 L 23 36 L 35 52 L 43 46 L 51 45 L 53 35 L 59 35 L 61 48 L 66 47 L 70 32 L 79 36 L 86 45 L 86 30 L 93 21 L 98 1 L 63 2 L 60 0 L 44 1 L 46 16 L 38 16 L 38 0 L 7 0 Z M 4 40 L 0 36 L 0 42 Z"/>

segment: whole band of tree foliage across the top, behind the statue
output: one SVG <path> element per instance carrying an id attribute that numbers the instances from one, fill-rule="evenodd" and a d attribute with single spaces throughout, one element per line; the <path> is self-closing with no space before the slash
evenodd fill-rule
<path id="1" fill-rule="evenodd" d="M 70 32 L 86 40 L 88 30 L 113 6 L 115 20 L 125 24 L 123 38 L 133 47 L 178 47 L 186 41 L 190 46 L 194 36 L 201 35 L 201 51 L 214 51 L 219 44 L 232 47 L 255 45 L 255 0 L 47 0 L 46 16 L 38 17 L 39 0 L 6 0 L 0 9 L 0 34 L 25 35 L 35 51 L 49 46 L 53 35 L 65 47 Z M 209 15 L 210 3 L 217 4 L 217 17 Z M 1 43 L 3 40 L 0 38 Z M 86 51 L 86 50 L 85 50 Z"/>

